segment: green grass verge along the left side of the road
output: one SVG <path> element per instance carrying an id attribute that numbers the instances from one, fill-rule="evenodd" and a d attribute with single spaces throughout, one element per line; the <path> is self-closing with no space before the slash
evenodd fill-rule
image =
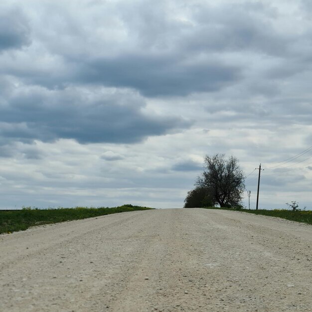
<path id="1" fill-rule="evenodd" d="M 0 234 L 23 231 L 35 225 L 79 220 L 111 213 L 148 209 L 153 208 L 133 206 L 128 204 L 113 208 L 76 207 L 57 209 L 31 209 L 30 207 L 24 207 L 21 210 L 0 210 Z"/>

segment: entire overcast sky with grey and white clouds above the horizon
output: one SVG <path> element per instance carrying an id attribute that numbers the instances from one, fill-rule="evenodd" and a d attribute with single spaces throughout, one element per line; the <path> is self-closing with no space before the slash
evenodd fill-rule
<path id="1" fill-rule="evenodd" d="M 182 207 L 216 153 L 312 208 L 311 3 L 1 0 L 0 208 Z"/>

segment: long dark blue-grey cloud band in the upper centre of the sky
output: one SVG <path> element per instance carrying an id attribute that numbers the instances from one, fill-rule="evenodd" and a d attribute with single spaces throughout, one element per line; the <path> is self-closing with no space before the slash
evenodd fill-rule
<path id="1" fill-rule="evenodd" d="M 122 55 L 85 64 L 80 82 L 129 87 L 146 96 L 217 91 L 238 79 L 240 69 L 208 60 L 189 64 L 175 56 Z"/>

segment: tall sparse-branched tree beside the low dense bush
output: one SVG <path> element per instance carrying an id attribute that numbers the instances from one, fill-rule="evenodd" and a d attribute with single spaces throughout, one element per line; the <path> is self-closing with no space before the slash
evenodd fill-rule
<path id="1" fill-rule="evenodd" d="M 205 188 L 220 207 L 241 205 L 245 189 L 245 175 L 236 157 L 205 156 L 204 172 L 197 178 L 196 187 Z"/>

